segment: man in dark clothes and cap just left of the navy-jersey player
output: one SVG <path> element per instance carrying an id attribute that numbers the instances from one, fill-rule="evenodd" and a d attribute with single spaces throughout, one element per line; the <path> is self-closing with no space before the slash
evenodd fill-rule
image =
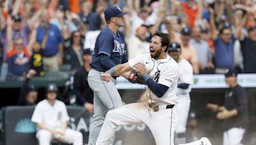
<path id="1" fill-rule="evenodd" d="M 84 65 L 77 69 L 74 75 L 74 93 L 76 95 L 76 103 L 84 106 L 85 109 L 93 113 L 93 91 L 88 85 L 88 72 L 92 69 L 90 63 L 92 61 L 92 51 L 86 49 L 83 51 Z"/>

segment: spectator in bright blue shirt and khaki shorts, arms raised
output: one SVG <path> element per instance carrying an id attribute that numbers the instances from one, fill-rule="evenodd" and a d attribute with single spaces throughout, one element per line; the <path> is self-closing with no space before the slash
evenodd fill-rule
<path id="1" fill-rule="evenodd" d="M 45 35 L 48 35 L 48 39 L 44 48 L 44 69 L 45 71 L 58 71 L 62 64 L 63 38 L 58 27 L 49 23 L 47 10 L 42 12 L 42 23 L 38 27 L 36 40 L 42 43 Z"/>

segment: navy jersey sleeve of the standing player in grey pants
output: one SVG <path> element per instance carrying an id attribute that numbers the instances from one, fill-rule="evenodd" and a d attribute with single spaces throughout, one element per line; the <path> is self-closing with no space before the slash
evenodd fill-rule
<path id="1" fill-rule="evenodd" d="M 113 50 L 113 36 L 108 32 L 102 32 L 99 34 L 99 53 L 104 53 L 110 57 Z"/>

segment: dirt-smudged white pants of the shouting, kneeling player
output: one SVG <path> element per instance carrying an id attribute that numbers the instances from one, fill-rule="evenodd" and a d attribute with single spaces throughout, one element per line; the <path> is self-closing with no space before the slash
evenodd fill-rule
<path id="1" fill-rule="evenodd" d="M 108 145 L 119 125 L 145 123 L 157 145 L 173 145 L 174 131 L 179 124 L 177 109 L 160 109 L 154 112 L 146 102 L 127 104 L 106 114 L 97 145 Z"/>

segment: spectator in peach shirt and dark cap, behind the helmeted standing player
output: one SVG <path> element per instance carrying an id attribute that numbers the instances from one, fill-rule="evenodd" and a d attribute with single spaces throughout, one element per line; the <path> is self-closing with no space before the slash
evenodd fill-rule
<path id="1" fill-rule="evenodd" d="M 181 36 L 180 36 L 181 43 L 180 44 L 181 44 L 181 49 L 182 49 L 181 56 L 190 62 L 190 64 L 193 66 L 193 72 L 195 74 L 198 74 L 199 67 L 198 67 L 198 59 L 197 59 L 197 55 L 196 55 L 196 50 L 193 46 L 191 46 L 189 44 L 189 40 L 191 37 L 191 29 L 189 27 L 185 27 L 184 29 L 182 29 L 180 34 L 181 34 Z"/>

